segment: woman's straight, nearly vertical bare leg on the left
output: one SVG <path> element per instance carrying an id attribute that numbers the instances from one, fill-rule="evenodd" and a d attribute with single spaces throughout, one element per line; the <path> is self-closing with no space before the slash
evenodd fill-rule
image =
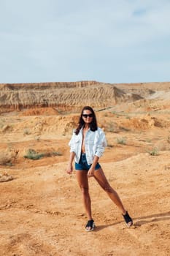
<path id="1" fill-rule="evenodd" d="M 88 171 L 87 170 L 77 170 L 76 171 L 77 181 L 80 189 L 82 190 L 82 201 L 85 206 L 85 211 L 87 213 L 88 219 L 92 219 L 91 215 L 91 200 L 88 189 Z"/>

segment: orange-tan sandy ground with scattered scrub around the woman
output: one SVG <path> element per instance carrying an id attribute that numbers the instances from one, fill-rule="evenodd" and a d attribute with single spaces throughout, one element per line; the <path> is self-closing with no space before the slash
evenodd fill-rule
<path id="1" fill-rule="evenodd" d="M 134 226 L 90 178 L 90 233 L 75 173 L 65 171 L 77 114 L 40 112 L 0 116 L 0 255 L 170 255 L 168 102 L 97 113 L 108 140 L 100 162 Z M 29 150 L 42 158 L 26 158 Z"/>

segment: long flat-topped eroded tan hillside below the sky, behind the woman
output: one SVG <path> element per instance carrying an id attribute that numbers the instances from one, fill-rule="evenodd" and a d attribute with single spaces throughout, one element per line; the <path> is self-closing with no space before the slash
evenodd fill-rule
<path id="1" fill-rule="evenodd" d="M 26 108 L 56 108 L 61 111 L 78 110 L 82 105 L 108 108 L 117 102 L 142 99 L 126 93 L 109 83 L 81 81 L 75 83 L 1 84 L 1 113 Z"/>

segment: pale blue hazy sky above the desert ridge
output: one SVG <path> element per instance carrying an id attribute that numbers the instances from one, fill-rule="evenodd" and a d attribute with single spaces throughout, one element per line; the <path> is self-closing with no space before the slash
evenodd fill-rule
<path id="1" fill-rule="evenodd" d="M 0 83 L 170 81 L 170 0 L 0 0 Z"/>

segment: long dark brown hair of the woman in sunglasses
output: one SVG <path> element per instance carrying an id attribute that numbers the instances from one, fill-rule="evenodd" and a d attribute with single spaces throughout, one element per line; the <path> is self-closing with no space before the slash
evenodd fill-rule
<path id="1" fill-rule="evenodd" d="M 80 115 L 80 119 L 79 119 L 79 122 L 78 122 L 78 127 L 77 129 L 75 130 L 75 134 L 78 135 L 79 132 L 80 132 L 80 129 L 84 126 L 85 124 L 85 121 L 82 119 L 82 114 L 84 112 L 84 110 L 90 110 L 90 112 L 93 114 L 93 119 L 90 123 L 90 130 L 95 132 L 97 129 L 98 129 L 98 125 L 97 125 L 97 119 L 96 119 L 96 114 L 94 113 L 94 110 L 93 108 L 89 107 L 89 106 L 85 106 L 84 108 L 82 108 L 82 112 L 81 112 L 81 115 Z"/>

